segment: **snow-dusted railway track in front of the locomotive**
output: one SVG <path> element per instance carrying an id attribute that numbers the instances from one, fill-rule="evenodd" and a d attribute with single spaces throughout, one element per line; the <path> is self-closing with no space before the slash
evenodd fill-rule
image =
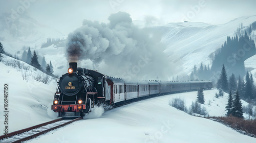
<path id="1" fill-rule="evenodd" d="M 81 118 L 82 117 L 78 117 L 78 118 L 75 118 L 74 120 L 63 120 L 63 118 L 58 118 L 56 120 L 39 124 L 30 128 L 11 132 L 8 134 L 8 137 L 6 137 L 5 135 L 0 136 L 0 143 L 2 142 L 16 143 L 16 142 L 25 141 L 31 138 L 35 138 L 38 135 L 41 135 L 51 130 L 57 129 L 59 127 L 68 125 L 72 122 L 80 120 Z"/>

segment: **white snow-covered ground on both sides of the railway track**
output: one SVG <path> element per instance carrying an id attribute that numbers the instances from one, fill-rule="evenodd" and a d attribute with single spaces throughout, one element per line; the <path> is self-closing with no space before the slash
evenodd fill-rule
<path id="1" fill-rule="evenodd" d="M 13 60 L 5 57 L 4 60 Z M 9 84 L 9 131 L 15 131 L 56 118 L 50 105 L 56 82 L 43 84 L 33 79 L 39 71 L 30 71 L 23 80 L 22 71 L 0 62 L 1 83 Z M 3 93 L 3 88 L 1 89 Z M 222 116 L 227 94 L 217 99 L 217 89 L 205 90 L 205 105 L 209 115 Z M 87 119 L 51 131 L 27 142 L 255 142 L 256 138 L 242 135 L 220 123 L 191 116 L 172 106 L 172 98 L 182 98 L 187 107 L 196 100 L 197 91 L 170 94 L 125 105 L 103 113 L 94 108 Z M 3 112 L 3 96 L 0 112 Z M 242 101 L 243 105 L 247 103 Z M 103 114 L 102 114 L 103 113 Z M 0 129 L 4 123 L 0 120 Z"/>

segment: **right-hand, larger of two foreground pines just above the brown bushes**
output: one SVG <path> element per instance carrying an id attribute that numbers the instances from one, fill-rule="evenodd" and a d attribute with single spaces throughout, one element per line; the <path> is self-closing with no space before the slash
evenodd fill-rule
<path id="1" fill-rule="evenodd" d="M 232 114 L 232 116 L 236 116 L 238 118 L 244 118 L 242 102 L 240 100 L 238 90 L 236 91 L 236 94 L 234 94 L 234 99 L 233 99 L 232 108 L 231 108 L 231 114 Z"/>

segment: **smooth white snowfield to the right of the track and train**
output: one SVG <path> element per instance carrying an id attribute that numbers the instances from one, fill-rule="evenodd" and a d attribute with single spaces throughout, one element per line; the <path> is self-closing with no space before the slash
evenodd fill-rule
<path id="1" fill-rule="evenodd" d="M 205 91 L 212 100 L 217 90 Z M 168 105 L 174 97 L 194 101 L 196 91 L 170 94 L 125 105 L 98 118 L 78 121 L 27 142 L 255 142 L 218 122 L 191 116 Z M 223 97 L 225 98 L 225 97 Z M 217 100 L 216 100 L 217 101 Z M 223 114 L 224 105 L 213 101 L 212 114 Z M 217 106 L 216 104 L 220 104 Z M 218 107 L 218 108 L 217 108 Z M 99 110 L 99 109 L 97 109 Z"/>

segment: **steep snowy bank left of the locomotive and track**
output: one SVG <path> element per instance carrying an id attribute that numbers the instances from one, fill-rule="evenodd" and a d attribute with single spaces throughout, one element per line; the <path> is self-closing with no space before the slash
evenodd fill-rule
<path id="1" fill-rule="evenodd" d="M 4 56 L 5 61 L 15 59 Z M 22 62 L 23 63 L 23 62 Z M 27 65 L 25 63 L 25 65 Z M 0 112 L 4 114 L 4 84 L 8 84 L 8 111 L 9 111 L 9 132 L 24 129 L 33 125 L 53 120 L 56 115 L 51 111 L 53 96 L 56 89 L 56 81 L 44 84 L 33 79 L 42 74 L 30 66 L 30 70 L 13 68 L 0 62 Z M 22 72 L 27 74 L 23 80 Z M 2 115 L 3 114 L 3 115 Z M 1 134 L 4 128 L 4 118 L 0 118 Z"/>

